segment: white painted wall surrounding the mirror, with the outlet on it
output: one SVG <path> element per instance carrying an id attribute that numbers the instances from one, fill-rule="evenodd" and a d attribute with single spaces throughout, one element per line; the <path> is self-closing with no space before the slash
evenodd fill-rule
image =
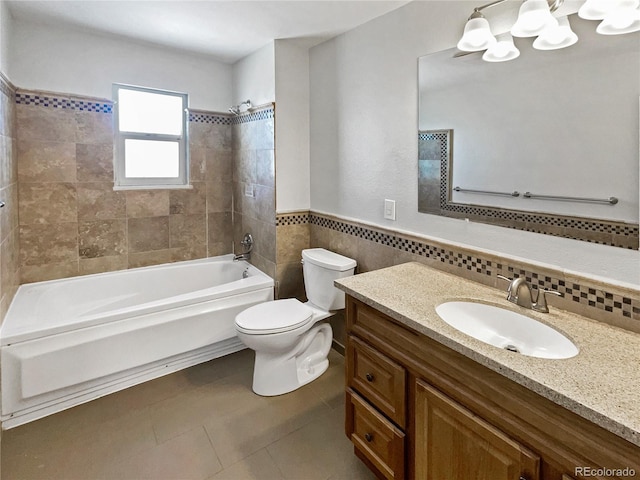
<path id="1" fill-rule="evenodd" d="M 638 252 L 418 213 L 417 59 L 455 46 L 475 6 L 415 1 L 311 49 L 311 209 L 640 285 Z"/>

